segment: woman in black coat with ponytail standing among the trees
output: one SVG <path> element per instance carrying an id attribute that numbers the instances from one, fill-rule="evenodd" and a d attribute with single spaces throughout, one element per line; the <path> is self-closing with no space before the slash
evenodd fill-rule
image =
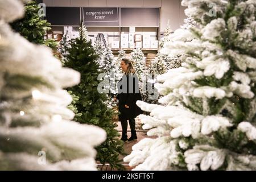
<path id="1" fill-rule="evenodd" d="M 119 121 L 122 125 L 122 138 L 123 142 L 137 140 L 135 130 L 135 119 L 137 115 L 142 114 L 141 108 L 136 105 L 136 101 L 142 100 L 141 93 L 139 92 L 138 77 L 135 75 L 133 64 L 129 59 L 121 60 L 121 68 L 125 74 L 118 82 L 118 111 Z M 131 137 L 127 139 L 127 120 L 131 129 Z"/>

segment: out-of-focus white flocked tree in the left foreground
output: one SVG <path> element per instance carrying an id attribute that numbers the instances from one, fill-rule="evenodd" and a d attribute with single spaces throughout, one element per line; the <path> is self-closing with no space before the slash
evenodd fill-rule
<path id="1" fill-rule="evenodd" d="M 80 74 L 11 30 L 8 22 L 24 14 L 21 1 L 1 0 L 0 9 L 0 169 L 95 170 L 93 147 L 106 133 L 71 121 L 63 90 Z"/>

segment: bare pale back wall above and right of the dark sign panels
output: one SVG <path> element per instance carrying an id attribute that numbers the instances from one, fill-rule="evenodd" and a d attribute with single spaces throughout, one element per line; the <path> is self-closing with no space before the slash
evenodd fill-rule
<path id="1" fill-rule="evenodd" d="M 169 19 L 175 31 L 184 24 L 183 20 L 187 17 L 181 0 L 43 0 L 43 3 L 59 7 L 160 7 L 160 32 L 167 27 Z M 112 32 L 110 27 L 102 30 Z"/>

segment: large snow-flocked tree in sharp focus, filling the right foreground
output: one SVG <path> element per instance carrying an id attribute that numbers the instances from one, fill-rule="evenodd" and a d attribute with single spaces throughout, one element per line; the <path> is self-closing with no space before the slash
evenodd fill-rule
<path id="1" fill-rule="evenodd" d="M 212 16 L 208 3 L 215 3 Z M 164 53 L 182 67 L 158 77 L 168 106 L 137 102 L 148 135 L 125 158 L 141 170 L 255 170 L 256 1 L 183 0 L 199 28 Z M 187 40 L 192 41 L 187 42 Z M 185 42 L 184 42 L 185 40 Z"/>

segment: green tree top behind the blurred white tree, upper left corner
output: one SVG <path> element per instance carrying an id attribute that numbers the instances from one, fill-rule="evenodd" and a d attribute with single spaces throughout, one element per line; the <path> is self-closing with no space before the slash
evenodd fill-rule
<path id="1" fill-rule="evenodd" d="M 39 16 L 40 7 L 36 1 L 24 3 L 25 15 L 22 19 L 15 20 L 11 27 L 20 35 L 24 36 L 29 42 L 43 44 L 53 50 L 57 49 L 57 43 L 53 39 L 44 40 L 46 31 L 51 30 L 51 23 Z"/>

